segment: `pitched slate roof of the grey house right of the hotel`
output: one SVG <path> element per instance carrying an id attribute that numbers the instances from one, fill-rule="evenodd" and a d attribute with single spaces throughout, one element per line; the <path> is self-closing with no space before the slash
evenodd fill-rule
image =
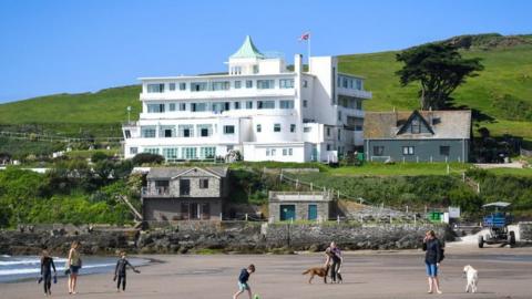
<path id="1" fill-rule="evenodd" d="M 434 134 L 397 133 L 413 112 L 367 112 L 364 120 L 365 140 L 462 140 L 471 137 L 471 111 L 419 111 Z"/>

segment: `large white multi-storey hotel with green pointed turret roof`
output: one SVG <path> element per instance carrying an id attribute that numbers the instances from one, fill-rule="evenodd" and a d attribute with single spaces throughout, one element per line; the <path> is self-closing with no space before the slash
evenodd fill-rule
<path id="1" fill-rule="evenodd" d="M 227 74 L 141 78 L 142 113 L 123 126 L 124 155 L 209 159 L 237 150 L 245 161 L 336 161 L 361 146 L 364 79 L 313 56 L 304 72 L 260 53 L 246 37 Z"/>

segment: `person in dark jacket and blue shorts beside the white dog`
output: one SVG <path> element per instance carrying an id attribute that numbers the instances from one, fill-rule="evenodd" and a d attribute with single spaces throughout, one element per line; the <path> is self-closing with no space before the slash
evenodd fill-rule
<path id="1" fill-rule="evenodd" d="M 434 230 L 429 230 L 424 234 L 423 251 L 426 251 L 424 266 L 429 279 L 428 293 L 432 293 L 433 290 L 438 293 L 442 293 L 440 290 L 440 281 L 438 279 L 438 268 L 440 267 L 440 261 L 443 259 L 443 250 L 440 240 L 436 237 Z"/>

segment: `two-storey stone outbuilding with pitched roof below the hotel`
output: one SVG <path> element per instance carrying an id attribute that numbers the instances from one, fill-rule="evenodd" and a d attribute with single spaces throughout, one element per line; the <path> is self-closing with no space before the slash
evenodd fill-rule
<path id="1" fill-rule="evenodd" d="M 227 167 L 154 167 L 146 181 L 143 220 L 221 220 Z"/>

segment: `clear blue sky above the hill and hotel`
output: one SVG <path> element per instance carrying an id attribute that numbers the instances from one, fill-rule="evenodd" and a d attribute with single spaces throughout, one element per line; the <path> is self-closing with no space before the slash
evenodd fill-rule
<path id="1" fill-rule="evenodd" d="M 262 51 L 403 49 L 466 33 L 532 33 L 532 1 L 2 0 L 0 102 L 98 91 L 139 76 L 224 71 L 250 34 Z"/>

